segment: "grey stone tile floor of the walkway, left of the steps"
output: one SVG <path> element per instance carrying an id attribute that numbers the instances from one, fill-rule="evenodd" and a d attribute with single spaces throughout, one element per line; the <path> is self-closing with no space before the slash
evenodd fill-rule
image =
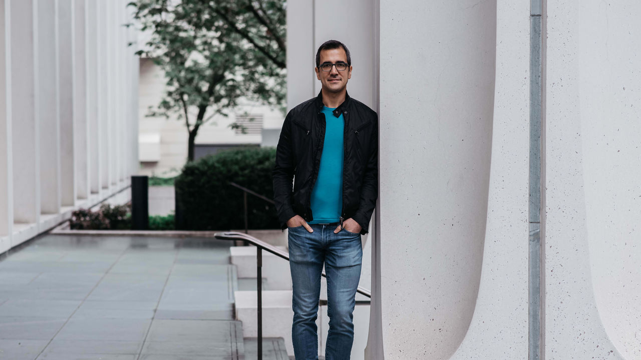
<path id="1" fill-rule="evenodd" d="M 0 256 L 0 359 L 242 359 L 228 241 L 45 235 Z"/>

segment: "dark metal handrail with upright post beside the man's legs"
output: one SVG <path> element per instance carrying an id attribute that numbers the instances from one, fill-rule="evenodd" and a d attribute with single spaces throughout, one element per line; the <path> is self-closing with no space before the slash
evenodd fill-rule
<path id="1" fill-rule="evenodd" d="M 226 231 L 224 233 L 215 233 L 213 234 L 213 236 L 219 240 L 244 240 L 246 241 L 246 243 L 251 243 L 251 245 L 254 245 L 256 247 L 256 288 L 257 288 L 256 298 L 258 299 L 258 306 L 256 308 L 256 312 L 258 313 L 257 319 L 256 319 L 258 322 L 257 343 L 258 343 L 258 360 L 262 360 L 263 359 L 263 295 L 262 295 L 263 293 L 263 272 L 262 272 L 263 251 L 262 250 L 263 249 L 267 250 L 268 252 L 271 252 L 272 254 L 278 256 L 279 258 L 283 258 L 287 261 L 289 261 L 289 253 L 281 249 L 278 249 L 278 247 L 268 244 L 265 241 L 258 240 L 257 238 L 254 238 L 254 236 L 251 236 L 249 234 Z M 320 275 L 327 277 L 327 275 L 325 274 L 325 270 L 323 270 L 320 273 Z M 371 291 L 365 288 L 361 288 L 360 286 L 356 288 L 356 292 L 362 295 L 365 295 L 370 299 L 372 298 Z M 356 301 L 356 304 L 359 304 L 359 305 L 368 304 L 368 303 L 369 303 L 369 300 Z M 327 301 L 320 300 L 319 305 L 327 305 Z"/>

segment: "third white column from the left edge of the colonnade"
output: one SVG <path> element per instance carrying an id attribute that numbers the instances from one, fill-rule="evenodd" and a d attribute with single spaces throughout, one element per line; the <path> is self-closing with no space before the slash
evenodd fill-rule
<path id="1" fill-rule="evenodd" d="M 41 212 L 60 212 L 60 107 L 58 89 L 58 0 L 38 2 L 38 102 L 40 104 Z"/>

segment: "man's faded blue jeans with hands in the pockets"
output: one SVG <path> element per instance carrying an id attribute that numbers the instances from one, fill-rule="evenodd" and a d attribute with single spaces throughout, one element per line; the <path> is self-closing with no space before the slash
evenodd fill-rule
<path id="1" fill-rule="evenodd" d="M 290 227 L 288 232 L 290 270 L 292 272 L 292 341 L 296 360 L 318 359 L 316 318 L 320 297 L 320 273 L 323 264 L 327 274 L 327 312 L 329 332 L 325 346 L 326 360 L 349 360 L 354 342 L 352 322 L 356 288 L 360 279 L 360 234 L 336 225 Z"/>

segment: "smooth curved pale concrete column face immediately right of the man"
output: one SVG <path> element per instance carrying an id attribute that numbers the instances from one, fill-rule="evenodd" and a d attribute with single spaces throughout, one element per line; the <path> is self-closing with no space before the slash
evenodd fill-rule
<path id="1" fill-rule="evenodd" d="M 380 291 L 389 359 L 449 359 L 474 315 L 496 10 L 495 1 L 380 1 Z"/>

